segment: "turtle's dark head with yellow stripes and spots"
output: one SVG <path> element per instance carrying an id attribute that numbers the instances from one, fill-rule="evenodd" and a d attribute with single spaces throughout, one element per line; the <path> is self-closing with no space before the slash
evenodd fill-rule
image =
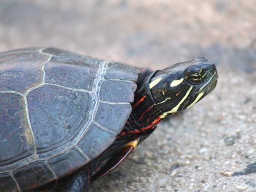
<path id="1" fill-rule="evenodd" d="M 160 117 L 196 104 L 216 87 L 217 78 L 214 63 L 205 57 L 176 63 L 156 72 L 150 80 L 150 90 L 162 112 Z"/>

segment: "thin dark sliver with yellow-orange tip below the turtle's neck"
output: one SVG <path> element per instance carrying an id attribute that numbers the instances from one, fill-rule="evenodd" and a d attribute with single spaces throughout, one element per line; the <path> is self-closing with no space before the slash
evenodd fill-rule
<path id="1" fill-rule="evenodd" d="M 111 159 L 108 160 L 108 162 L 106 162 L 106 164 L 96 174 L 92 176 L 91 181 L 95 181 L 110 173 L 134 151 L 138 143 L 139 139 L 137 138 L 134 141 L 131 141 L 119 147 L 119 149 L 112 155 Z"/>

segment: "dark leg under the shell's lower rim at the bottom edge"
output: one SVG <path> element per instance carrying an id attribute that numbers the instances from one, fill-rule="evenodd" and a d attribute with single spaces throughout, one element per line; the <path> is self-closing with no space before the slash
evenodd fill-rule
<path id="1" fill-rule="evenodd" d="M 91 176 L 91 168 L 87 165 L 71 176 L 60 179 L 53 191 L 88 191 Z"/>

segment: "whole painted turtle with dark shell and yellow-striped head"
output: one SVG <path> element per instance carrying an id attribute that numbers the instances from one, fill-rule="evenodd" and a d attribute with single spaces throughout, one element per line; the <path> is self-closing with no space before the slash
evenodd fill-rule
<path id="1" fill-rule="evenodd" d="M 54 48 L 1 53 L 0 190 L 86 190 L 217 77 L 204 57 L 151 72 Z"/>

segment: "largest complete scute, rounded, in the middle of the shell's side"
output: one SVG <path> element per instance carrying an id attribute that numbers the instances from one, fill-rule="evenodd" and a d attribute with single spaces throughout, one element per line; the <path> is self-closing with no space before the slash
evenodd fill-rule
<path id="1" fill-rule="evenodd" d="M 37 153 L 71 141 L 88 120 L 91 95 L 45 85 L 28 96 Z"/>

